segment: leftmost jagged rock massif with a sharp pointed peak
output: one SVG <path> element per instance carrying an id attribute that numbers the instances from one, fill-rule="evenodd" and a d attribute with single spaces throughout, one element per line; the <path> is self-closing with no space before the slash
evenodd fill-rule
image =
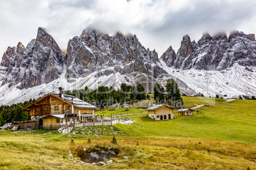
<path id="1" fill-rule="evenodd" d="M 18 84 L 17 88 L 30 88 L 51 82 L 62 74 L 65 55 L 57 42 L 45 29 L 39 27 L 36 39 L 32 39 L 27 48 L 21 42 L 17 47 L 8 47 L 1 62 L 1 72 L 5 76 L 1 86 Z"/>

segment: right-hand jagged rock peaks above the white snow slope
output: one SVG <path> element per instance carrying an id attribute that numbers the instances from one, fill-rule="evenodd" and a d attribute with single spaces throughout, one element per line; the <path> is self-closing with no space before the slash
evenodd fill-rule
<path id="1" fill-rule="evenodd" d="M 234 63 L 243 66 L 256 65 L 256 41 L 254 34 L 231 32 L 211 37 L 203 34 L 196 43 L 188 35 L 183 37 L 177 55 L 169 49 L 161 56 L 168 67 L 176 69 L 225 70 Z"/>

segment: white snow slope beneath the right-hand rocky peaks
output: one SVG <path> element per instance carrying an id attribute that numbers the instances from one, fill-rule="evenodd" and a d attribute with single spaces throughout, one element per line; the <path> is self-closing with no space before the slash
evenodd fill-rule
<path id="1" fill-rule="evenodd" d="M 178 84 L 181 92 L 187 95 L 195 95 L 196 93 L 201 93 L 204 96 L 227 95 L 229 97 L 256 95 L 256 68 L 254 67 L 252 67 L 253 70 L 247 70 L 246 67 L 235 63 L 233 67 L 221 71 L 182 70 L 167 67 L 162 60 L 160 62 L 162 69 L 166 70 L 173 79 L 176 79 L 177 82 L 183 82 L 183 86 L 181 83 Z"/>

